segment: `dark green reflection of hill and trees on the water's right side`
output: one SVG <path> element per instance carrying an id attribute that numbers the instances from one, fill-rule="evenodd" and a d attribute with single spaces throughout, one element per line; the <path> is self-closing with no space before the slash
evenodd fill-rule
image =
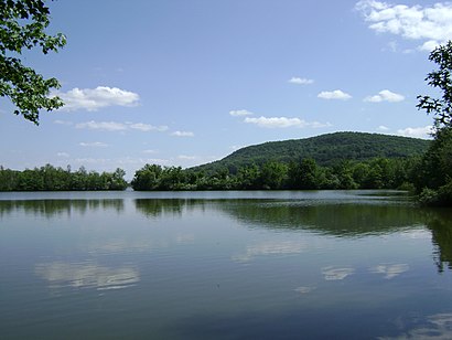
<path id="1" fill-rule="evenodd" d="M 184 210 L 214 209 L 247 227 L 312 231 L 336 237 L 384 235 L 426 225 L 432 234 L 438 270 L 452 270 L 452 211 L 422 210 L 411 204 L 322 203 L 280 200 L 138 199 L 137 211 L 148 217 Z"/>

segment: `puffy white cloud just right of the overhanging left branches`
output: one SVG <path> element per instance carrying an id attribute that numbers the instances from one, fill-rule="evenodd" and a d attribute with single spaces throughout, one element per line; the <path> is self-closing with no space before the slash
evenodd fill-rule
<path id="1" fill-rule="evenodd" d="M 108 106 L 136 106 L 140 96 L 133 92 L 117 87 L 98 86 L 96 88 L 73 88 L 68 92 L 56 92 L 65 105 L 62 109 L 72 111 L 86 109 L 95 111 Z"/>

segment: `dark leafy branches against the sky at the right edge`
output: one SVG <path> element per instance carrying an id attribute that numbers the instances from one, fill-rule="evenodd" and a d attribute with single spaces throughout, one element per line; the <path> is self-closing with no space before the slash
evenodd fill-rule
<path id="1" fill-rule="evenodd" d="M 430 96 L 418 96 L 418 109 L 424 109 L 428 114 L 433 114 L 435 128 L 452 127 L 452 41 L 434 49 L 429 60 L 437 63 L 438 71 L 432 71 L 427 75 L 426 82 L 430 86 L 442 92 L 441 98 Z"/>

